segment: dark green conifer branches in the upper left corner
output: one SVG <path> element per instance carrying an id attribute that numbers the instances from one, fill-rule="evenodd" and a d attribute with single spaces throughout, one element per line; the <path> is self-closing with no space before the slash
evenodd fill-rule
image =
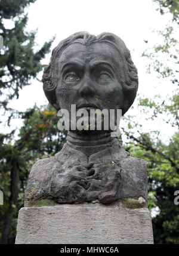
<path id="1" fill-rule="evenodd" d="M 24 86 L 36 78 L 43 65 L 41 60 L 49 53 L 53 39 L 45 42 L 36 52 L 36 32 L 26 32 L 27 15 L 24 7 L 34 0 L 2 0 L 0 2 L 0 35 L 4 39 L 4 48 L 0 51 L 0 95 L 1 106 L 7 109 L 9 100 L 16 97 Z M 12 29 L 5 27 L 5 19 L 14 23 Z M 5 97 L 6 95 L 6 97 Z"/>

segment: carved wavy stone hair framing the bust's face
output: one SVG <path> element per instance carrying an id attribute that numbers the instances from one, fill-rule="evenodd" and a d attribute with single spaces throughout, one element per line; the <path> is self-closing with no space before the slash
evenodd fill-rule
<path id="1" fill-rule="evenodd" d="M 119 65 L 119 79 L 123 87 L 125 97 L 124 106 L 122 107 L 122 115 L 124 115 L 129 107 L 131 107 L 137 94 L 137 68 L 132 62 L 131 54 L 128 48 L 126 48 L 124 41 L 113 33 L 104 32 L 98 36 L 91 35 L 88 32 L 74 33 L 61 41 L 57 47 L 54 48 L 51 55 L 50 64 L 45 67 L 44 74 L 42 76 L 42 82 L 44 84 L 43 88 L 48 101 L 55 107 L 55 109 L 60 109 L 55 94 L 60 70 L 60 63 L 58 60 L 61 53 L 67 46 L 77 42 L 86 46 L 96 42 L 105 42 L 106 44 L 113 45 L 113 47 L 118 50 L 121 63 Z"/>

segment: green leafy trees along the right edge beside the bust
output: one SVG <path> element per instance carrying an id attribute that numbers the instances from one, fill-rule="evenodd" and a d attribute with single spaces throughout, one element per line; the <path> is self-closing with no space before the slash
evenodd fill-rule
<path id="1" fill-rule="evenodd" d="M 179 189 L 179 91 L 178 91 L 178 42 L 174 27 L 178 24 L 178 1 L 159 2 L 159 9 L 172 14 L 172 22 L 163 31 L 158 32 L 163 44 L 155 44 L 143 53 L 148 63 L 148 72 L 155 71 L 159 79 L 168 81 L 173 93 L 170 97 L 156 96 L 154 99 L 140 97 L 138 115 L 126 116 L 128 129 L 122 128 L 126 136 L 124 147 L 132 156 L 147 160 L 149 175 L 149 208 L 158 206 L 158 214 L 153 217 L 155 243 L 179 243 L 179 208 L 174 204 L 174 192 Z M 164 11 L 165 10 L 165 11 Z M 162 90 L 162 88 L 161 88 Z M 161 131 L 143 131 L 143 123 L 138 116 L 144 116 L 143 122 L 168 124 L 174 133 L 169 140 L 163 140 Z M 128 141 L 129 139 L 129 141 Z"/>

